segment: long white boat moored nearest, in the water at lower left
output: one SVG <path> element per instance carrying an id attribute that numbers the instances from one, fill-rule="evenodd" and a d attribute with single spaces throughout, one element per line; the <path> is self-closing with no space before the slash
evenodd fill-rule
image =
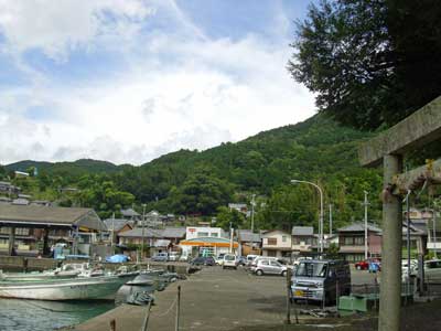
<path id="1" fill-rule="evenodd" d="M 31 300 L 114 300 L 118 289 L 138 273 L 41 281 L 1 281 L 0 297 Z"/>

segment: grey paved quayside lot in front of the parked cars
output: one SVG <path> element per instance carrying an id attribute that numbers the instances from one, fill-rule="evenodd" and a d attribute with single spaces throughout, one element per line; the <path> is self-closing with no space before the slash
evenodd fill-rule
<path id="1" fill-rule="evenodd" d="M 367 271 L 355 271 L 354 282 L 373 281 Z M 286 317 L 286 279 L 280 276 L 249 275 L 243 268 L 223 270 L 206 267 L 190 279 L 172 284 L 157 293 L 149 330 L 174 330 L 178 286 L 182 288 L 180 330 L 233 330 L 249 325 L 279 324 Z M 75 330 L 109 330 L 116 319 L 117 330 L 139 330 L 144 307 L 123 305 Z"/>

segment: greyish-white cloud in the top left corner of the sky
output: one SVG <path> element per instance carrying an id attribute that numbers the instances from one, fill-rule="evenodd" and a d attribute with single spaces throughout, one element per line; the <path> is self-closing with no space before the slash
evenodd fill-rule
<path id="1" fill-rule="evenodd" d="M 151 12 L 139 0 L 0 0 L 0 31 L 11 51 L 39 49 L 64 60 L 101 34 L 137 31 Z"/>

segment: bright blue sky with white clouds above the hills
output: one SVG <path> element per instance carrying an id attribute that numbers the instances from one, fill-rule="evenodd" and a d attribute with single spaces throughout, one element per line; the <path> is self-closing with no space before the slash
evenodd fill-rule
<path id="1" fill-rule="evenodd" d="M 286 66 L 309 0 L 0 0 L 0 164 L 142 164 L 315 114 Z"/>

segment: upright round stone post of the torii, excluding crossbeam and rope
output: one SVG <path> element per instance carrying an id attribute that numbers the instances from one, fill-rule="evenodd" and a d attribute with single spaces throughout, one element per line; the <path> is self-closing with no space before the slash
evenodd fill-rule
<path id="1" fill-rule="evenodd" d="M 385 186 L 401 172 L 401 156 L 384 157 Z M 379 331 L 399 331 L 401 309 L 401 201 L 385 193 L 383 197 L 381 284 L 379 297 Z"/>

